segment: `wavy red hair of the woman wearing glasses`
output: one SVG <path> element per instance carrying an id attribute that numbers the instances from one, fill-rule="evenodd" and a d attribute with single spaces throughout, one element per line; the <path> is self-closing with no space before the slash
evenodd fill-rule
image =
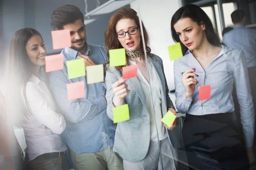
<path id="1" fill-rule="evenodd" d="M 119 42 L 117 36 L 116 36 L 116 23 L 121 19 L 131 19 L 134 20 L 137 26 L 140 29 L 140 20 L 137 16 L 137 12 L 134 11 L 132 8 L 125 7 L 121 8 L 116 13 L 114 13 L 109 22 L 108 22 L 108 28 L 105 31 L 105 46 L 108 48 L 108 50 L 117 49 L 117 48 L 123 48 L 121 43 Z M 143 33 L 144 33 L 144 39 L 145 39 L 145 45 L 146 45 L 146 52 L 149 54 L 151 52 L 151 49 L 149 48 L 149 41 L 148 41 L 148 33 L 146 31 L 146 28 L 144 24 L 142 23 Z M 140 48 L 143 49 L 143 43 L 142 43 L 142 37 L 140 37 Z M 144 54 L 144 51 L 142 50 L 142 53 Z M 109 53 L 108 53 L 109 57 Z M 128 61 L 128 56 L 126 55 L 126 61 Z M 106 64 L 108 64 L 107 62 Z M 105 64 L 105 65 L 106 65 Z M 123 66 L 116 67 L 119 71 L 122 70 Z"/>

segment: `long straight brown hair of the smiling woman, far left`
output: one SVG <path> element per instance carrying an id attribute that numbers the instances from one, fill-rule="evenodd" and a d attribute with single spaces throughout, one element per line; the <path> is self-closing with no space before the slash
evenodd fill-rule
<path id="1" fill-rule="evenodd" d="M 26 52 L 26 44 L 34 35 L 41 36 L 33 28 L 19 29 L 12 36 L 10 46 L 6 111 L 9 114 L 10 121 L 17 126 L 26 122 L 28 115 L 21 95 L 23 93 L 26 101 L 26 84 L 32 74 L 33 66 Z"/>

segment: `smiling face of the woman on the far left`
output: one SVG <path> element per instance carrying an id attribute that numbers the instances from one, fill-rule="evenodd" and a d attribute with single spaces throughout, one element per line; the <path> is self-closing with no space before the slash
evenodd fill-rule
<path id="1" fill-rule="evenodd" d="M 33 65 L 45 65 L 46 48 L 41 36 L 33 35 L 26 43 L 26 53 Z"/>

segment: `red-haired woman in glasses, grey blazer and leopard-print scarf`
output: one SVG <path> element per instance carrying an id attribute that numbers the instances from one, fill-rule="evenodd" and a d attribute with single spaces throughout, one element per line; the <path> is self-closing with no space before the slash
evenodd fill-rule
<path id="1" fill-rule="evenodd" d="M 167 127 L 161 119 L 168 110 L 176 111 L 168 95 L 163 61 L 150 53 L 143 24 L 142 28 L 147 54 L 143 52 L 139 17 L 133 9 L 122 8 L 113 14 L 105 31 L 108 49 L 125 48 L 126 65 L 138 65 L 137 76 L 131 79 L 122 78 L 122 66 L 106 65 L 108 116 L 113 120 L 113 108 L 124 104 L 128 104 L 130 114 L 129 120 L 117 123 L 113 150 L 122 157 L 125 170 L 175 170 L 175 153 L 168 133 L 173 127 Z"/>

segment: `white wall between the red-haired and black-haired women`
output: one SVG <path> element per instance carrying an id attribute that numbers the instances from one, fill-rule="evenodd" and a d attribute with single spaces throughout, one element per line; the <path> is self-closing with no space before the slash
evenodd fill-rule
<path id="1" fill-rule="evenodd" d="M 167 46 L 174 44 L 171 34 L 172 15 L 181 7 L 181 0 L 138 0 L 141 19 L 148 31 L 152 53 L 163 59 L 169 90 L 173 90 L 173 61 L 169 59 Z M 138 12 L 137 1 L 131 8 Z"/>

